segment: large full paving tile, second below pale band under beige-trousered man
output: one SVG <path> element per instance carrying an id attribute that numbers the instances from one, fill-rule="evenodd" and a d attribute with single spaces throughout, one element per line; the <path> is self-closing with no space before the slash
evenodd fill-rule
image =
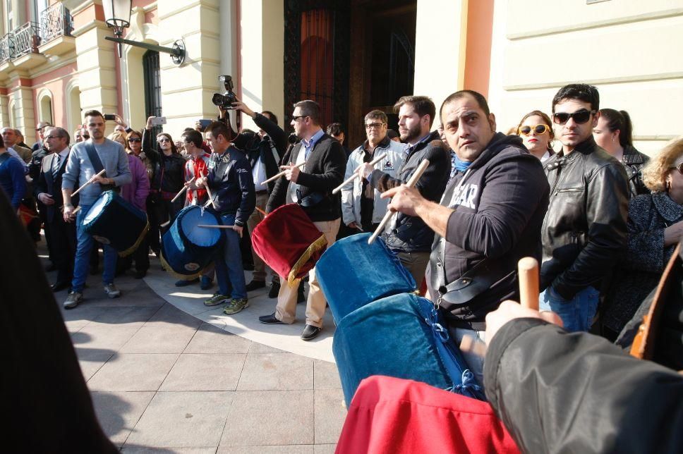
<path id="1" fill-rule="evenodd" d="M 221 447 L 313 444 L 313 391 L 236 391 Z"/>

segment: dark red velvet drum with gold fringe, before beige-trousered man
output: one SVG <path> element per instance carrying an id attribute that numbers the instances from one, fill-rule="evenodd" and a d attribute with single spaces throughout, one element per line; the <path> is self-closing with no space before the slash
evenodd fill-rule
<path id="1" fill-rule="evenodd" d="M 270 212 L 251 233 L 253 250 L 279 276 L 292 282 L 306 276 L 325 252 L 325 235 L 298 204 Z"/>

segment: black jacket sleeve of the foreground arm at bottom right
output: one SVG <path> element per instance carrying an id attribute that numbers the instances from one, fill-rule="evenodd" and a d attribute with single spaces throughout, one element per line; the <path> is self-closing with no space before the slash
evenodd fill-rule
<path id="1" fill-rule="evenodd" d="M 486 397 L 523 453 L 681 453 L 683 376 L 539 319 L 490 340 Z"/>

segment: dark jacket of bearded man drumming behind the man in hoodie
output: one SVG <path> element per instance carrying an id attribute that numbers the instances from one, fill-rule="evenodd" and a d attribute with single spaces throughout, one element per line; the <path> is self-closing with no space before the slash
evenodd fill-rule
<path id="1" fill-rule="evenodd" d="M 438 202 L 441 200 L 451 173 L 451 155 L 444 142 L 441 141 L 439 132 L 433 131 L 425 140 L 407 151 L 408 155 L 399 167 L 396 178 L 375 169 L 368 176 L 370 185 L 380 192 L 385 192 L 407 183 L 420 163 L 424 159 L 429 159 L 429 166 L 415 187 L 425 199 Z M 389 249 L 396 252 L 429 252 L 432 250 L 434 231 L 418 216 L 407 216 L 399 213 L 396 223 L 392 227 L 387 228 L 383 234 Z"/>

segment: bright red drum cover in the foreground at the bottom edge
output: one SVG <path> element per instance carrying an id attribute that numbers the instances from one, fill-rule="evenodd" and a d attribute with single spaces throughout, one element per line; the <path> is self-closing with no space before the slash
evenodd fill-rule
<path id="1" fill-rule="evenodd" d="M 519 448 L 488 403 L 375 375 L 358 386 L 336 452 L 517 454 Z"/>

